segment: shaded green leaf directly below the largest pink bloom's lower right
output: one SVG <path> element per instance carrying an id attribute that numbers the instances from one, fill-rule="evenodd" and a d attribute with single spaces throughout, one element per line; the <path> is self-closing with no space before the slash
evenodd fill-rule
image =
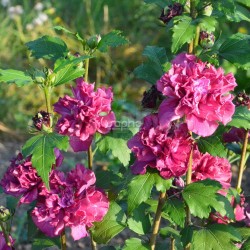
<path id="1" fill-rule="evenodd" d="M 227 149 L 218 136 L 199 138 L 198 147 L 202 153 L 208 152 L 210 155 L 222 158 L 227 156 Z"/>

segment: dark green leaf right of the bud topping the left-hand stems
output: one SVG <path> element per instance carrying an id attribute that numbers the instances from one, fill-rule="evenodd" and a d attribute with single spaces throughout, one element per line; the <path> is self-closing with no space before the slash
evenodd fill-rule
<path id="1" fill-rule="evenodd" d="M 108 47 L 118 47 L 129 43 L 126 37 L 121 35 L 120 30 L 113 30 L 108 34 L 102 36 L 101 41 L 98 43 L 97 49 L 101 52 L 107 52 Z"/>

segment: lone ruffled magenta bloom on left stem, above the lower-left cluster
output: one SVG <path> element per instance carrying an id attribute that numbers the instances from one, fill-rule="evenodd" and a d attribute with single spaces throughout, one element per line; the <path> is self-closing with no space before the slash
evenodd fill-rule
<path id="1" fill-rule="evenodd" d="M 96 132 L 108 133 L 115 124 L 111 111 L 113 93 L 111 88 L 98 88 L 77 79 L 73 88 L 74 97 L 65 96 L 54 104 L 55 112 L 61 114 L 57 131 L 70 136 L 70 145 L 75 152 L 86 151 Z"/>

